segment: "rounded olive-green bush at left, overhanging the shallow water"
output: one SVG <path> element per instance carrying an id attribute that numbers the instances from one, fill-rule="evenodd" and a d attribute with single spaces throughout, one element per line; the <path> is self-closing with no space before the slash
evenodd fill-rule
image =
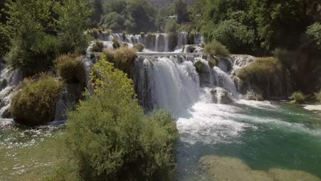
<path id="1" fill-rule="evenodd" d="M 23 89 L 12 99 L 14 120 L 23 125 L 41 125 L 53 121 L 63 88 L 62 82 L 49 76 L 40 77 L 36 82 L 25 81 Z"/>

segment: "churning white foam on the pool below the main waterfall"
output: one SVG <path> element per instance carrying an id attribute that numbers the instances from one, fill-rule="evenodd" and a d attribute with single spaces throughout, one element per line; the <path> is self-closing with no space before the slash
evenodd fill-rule
<path id="1" fill-rule="evenodd" d="M 235 106 L 198 102 L 189 110 L 176 115 L 181 140 L 190 144 L 235 141 L 246 128 L 253 127 L 249 123 L 230 119 L 237 110 Z"/>

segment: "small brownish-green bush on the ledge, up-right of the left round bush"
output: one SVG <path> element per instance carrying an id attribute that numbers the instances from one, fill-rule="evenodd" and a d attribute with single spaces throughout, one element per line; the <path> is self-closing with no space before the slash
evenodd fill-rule
<path id="1" fill-rule="evenodd" d="M 86 73 L 82 58 L 75 53 L 69 53 L 56 58 L 56 71 L 68 84 L 86 85 Z"/>

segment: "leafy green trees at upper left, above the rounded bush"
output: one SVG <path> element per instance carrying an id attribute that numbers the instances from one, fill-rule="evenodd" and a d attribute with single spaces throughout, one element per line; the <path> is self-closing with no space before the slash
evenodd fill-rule
<path id="1" fill-rule="evenodd" d="M 10 38 L 10 43 L 4 42 L 10 45 L 5 60 L 25 75 L 47 71 L 60 54 L 86 48 L 84 30 L 90 14 L 86 1 L 8 0 L 5 5 L 8 21 L 5 31 L 0 28 L 1 38 Z"/>

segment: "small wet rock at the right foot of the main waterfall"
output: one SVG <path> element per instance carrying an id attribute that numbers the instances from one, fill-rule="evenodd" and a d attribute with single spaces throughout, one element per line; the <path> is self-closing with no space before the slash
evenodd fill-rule
<path id="1" fill-rule="evenodd" d="M 232 104 L 233 99 L 231 93 L 224 88 L 213 88 L 211 90 L 212 101 L 215 104 Z"/>

